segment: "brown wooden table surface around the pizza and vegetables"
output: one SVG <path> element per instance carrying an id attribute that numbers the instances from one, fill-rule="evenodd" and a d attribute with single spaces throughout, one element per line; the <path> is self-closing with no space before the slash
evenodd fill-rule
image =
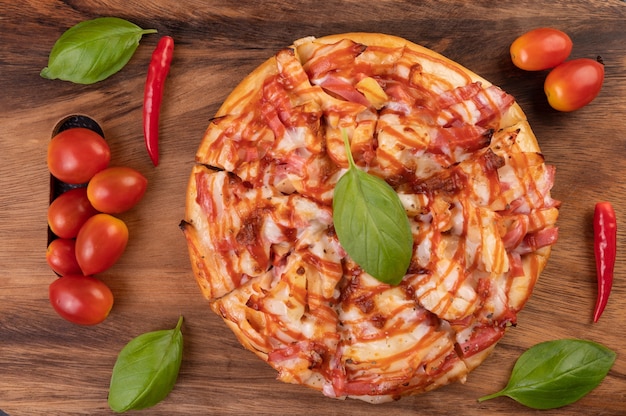
<path id="1" fill-rule="evenodd" d="M 415 3 L 415 4 L 414 4 Z M 145 36 L 130 63 L 88 86 L 45 80 L 55 40 L 70 26 L 117 16 L 176 40 L 161 121 L 161 163 L 145 152 L 141 107 L 147 64 L 159 35 Z M 0 0 L 0 409 L 11 416 L 112 414 L 107 405 L 119 350 L 184 315 L 183 363 L 172 393 L 150 415 L 624 415 L 626 414 L 626 3 L 568 1 L 138 1 Z M 601 55 L 606 80 L 597 99 L 573 113 L 550 109 L 545 72 L 513 67 L 510 43 L 553 26 L 570 34 L 572 57 Z M 548 163 L 562 201 L 560 238 L 518 325 L 466 384 L 384 405 L 337 401 L 275 380 L 239 346 L 192 277 L 178 228 L 194 153 L 209 119 L 245 74 L 295 39 L 349 31 L 384 32 L 434 49 L 514 95 Z M 52 310 L 45 260 L 49 173 L 46 147 L 56 123 L 82 113 L 103 127 L 113 164 L 141 171 L 145 198 L 122 218 L 130 242 L 103 278 L 115 294 L 95 327 Z M 591 218 L 611 201 L 620 224 L 616 279 L 602 319 L 591 323 L 596 280 Z M 623 225 L 623 226 L 622 226 Z M 583 338 L 615 350 L 617 361 L 591 394 L 553 411 L 508 398 L 476 399 L 506 384 L 532 345 Z"/>

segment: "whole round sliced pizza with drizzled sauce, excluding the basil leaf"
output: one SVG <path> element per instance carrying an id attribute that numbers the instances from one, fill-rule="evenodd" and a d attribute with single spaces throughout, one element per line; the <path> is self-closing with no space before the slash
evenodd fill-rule
<path id="1" fill-rule="evenodd" d="M 397 285 L 337 238 L 342 134 L 409 219 Z M 210 308 L 279 380 L 332 398 L 465 382 L 516 325 L 558 237 L 555 168 L 514 98 L 386 34 L 278 51 L 226 98 L 196 162 L 181 229 Z"/>

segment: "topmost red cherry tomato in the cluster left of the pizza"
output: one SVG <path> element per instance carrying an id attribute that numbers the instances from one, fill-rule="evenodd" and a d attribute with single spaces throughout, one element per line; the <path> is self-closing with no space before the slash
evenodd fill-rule
<path id="1" fill-rule="evenodd" d="M 85 183 L 111 161 L 109 145 L 98 133 L 75 127 L 63 130 L 48 144 L 48 169 L 67 183 Z"/>

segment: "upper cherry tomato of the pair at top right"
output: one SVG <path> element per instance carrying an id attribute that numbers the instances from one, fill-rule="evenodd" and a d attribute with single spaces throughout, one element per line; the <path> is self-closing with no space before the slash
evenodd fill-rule
<path id="1" fill-rule="evenodd" d="M 560 30 L 541 27 L 515 39 L 510 52 L 516 67 L 541 71 L 565 61 L 572 52 L 572 40 Z"/>

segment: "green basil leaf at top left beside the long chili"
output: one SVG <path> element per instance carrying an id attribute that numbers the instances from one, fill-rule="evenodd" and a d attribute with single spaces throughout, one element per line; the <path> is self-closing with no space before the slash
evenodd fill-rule
<path id="1" fill-rule="evenodd" d="M 69 28 L 50 51 L 48 66 L 41 71 L 47 79 L 93 84 L 122 69 L 135 53 L 142 29 L 117 17 L 86 20 Z"/>

